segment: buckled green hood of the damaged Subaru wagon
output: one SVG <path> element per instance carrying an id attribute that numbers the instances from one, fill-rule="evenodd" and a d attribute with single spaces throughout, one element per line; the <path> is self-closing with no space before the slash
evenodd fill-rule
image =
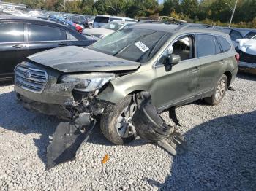
<path id="1" fill-rule="evenodd" d="M 129 71 L 140 63 L 83 47 L 59 47 L 30 55 L 29 60 L 63 72 Z"/>

